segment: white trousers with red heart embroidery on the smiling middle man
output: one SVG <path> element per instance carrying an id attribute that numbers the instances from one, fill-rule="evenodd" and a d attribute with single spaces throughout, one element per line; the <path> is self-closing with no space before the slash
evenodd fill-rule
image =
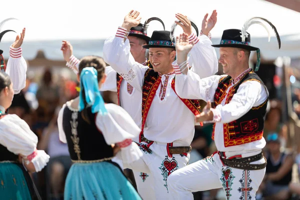
<path id="1" fill-rule="evenodd" d="M 147 144 L 146 142 L 141 142 L 138 145 L 143 152 L 141 159 L 130 164 L 124 164 L 124 168 L 143 171 L 152 175 L 155 195 L 152 199 L 171 199 L 166 183 L 167 177 L 177 169 L 186 166 L 189 153 L 172 154 L 170 157 L 166 143 L 151 142 Z M 175 143 L 173 143 L 173 146 L 176 146 Z"/>

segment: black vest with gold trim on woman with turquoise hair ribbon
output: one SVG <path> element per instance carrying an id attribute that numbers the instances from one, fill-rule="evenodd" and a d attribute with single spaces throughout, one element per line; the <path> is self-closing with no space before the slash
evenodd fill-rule
<path id="1" fill-rule="evenodd" d="M 87 109 L 90 124 L 83 120 L 81 112 L 71 111 L 65 106 L 62 126 L 72 160 L 98 160 L 113 156 L 112 147 L 107 145 L 95 125 L 96 113 Z"/>

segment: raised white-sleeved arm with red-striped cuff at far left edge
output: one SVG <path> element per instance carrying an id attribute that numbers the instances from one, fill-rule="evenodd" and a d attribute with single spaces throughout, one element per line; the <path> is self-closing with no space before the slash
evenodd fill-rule
<path id="1" fill-rule="evenodd" d="M 5 72 L 11 78 L 14 94 L 17 94 L 25 87 L 27 63 L 22 56 L 21 45 L 25 36 L 25 28 L 20 35 L 17 35 L 15 41 L 9 48 L 9 58 Z"/>

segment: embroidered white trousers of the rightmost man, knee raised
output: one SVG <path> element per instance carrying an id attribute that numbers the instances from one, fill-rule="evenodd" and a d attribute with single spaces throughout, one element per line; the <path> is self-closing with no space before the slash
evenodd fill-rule
<path id="1" fill-rule="evenodd" d="M 264 158 L 252 162 L 264 163 Z M 223 165 L 216 153 L 174 171 L 167 179 L 172 199 L 193 199 L 191 192 L 223 188 L 226 199 L 255 199 L 264 169 L 243 170 Z"/>

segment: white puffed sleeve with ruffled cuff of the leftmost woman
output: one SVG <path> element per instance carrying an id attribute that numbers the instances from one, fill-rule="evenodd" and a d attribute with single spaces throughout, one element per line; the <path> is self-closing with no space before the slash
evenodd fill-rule
<path id="1" fill-rule="evenodd" d="M 32 162 L 36 171 L 49 161 L 43 150 L 36 149 L 37 136 L 16 114 L 7 114 L 0 119 L 0 143 L 14 154 L 20 154 L 27 164 Z"/>

